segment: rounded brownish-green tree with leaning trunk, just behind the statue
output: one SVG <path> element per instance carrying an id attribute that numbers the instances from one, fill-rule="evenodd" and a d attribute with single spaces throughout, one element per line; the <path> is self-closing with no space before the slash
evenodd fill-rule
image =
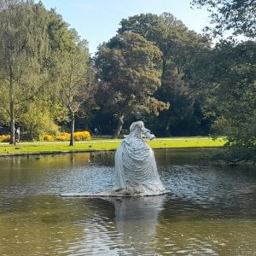
<path id="1" fill-rule="evenodd" d="M 111 108 L 119 120 L 113 138 L 119 136 L 125 116 L 138 109 L 158 113 L 168 108 L 153 97 L 160 86 L 160 57 L 160 49 L 134 32 L 116 35 L 96 53 L 100 104 Z"/>

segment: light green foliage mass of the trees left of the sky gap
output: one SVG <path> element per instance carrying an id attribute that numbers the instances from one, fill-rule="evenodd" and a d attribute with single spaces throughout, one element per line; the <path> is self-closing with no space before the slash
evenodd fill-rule
<path id="1" fill-rule="evenodd" d="M 87 44 L 61 15 L 46 10 L 41 2 L 3 0 L 0 9 L 0 99 L 4 102 L 0 122 L 11 123 L 13 143 L 15 122 L 26 129 L 30 139 L 38 139 L 48 131 L 47 126 L 49 131 L 57 131 L 55 122 L 68 119 L 67 107 L 76 108 L 77 97 L 88 93 L 72 87 L 84 84 L 79 79 L 88 73 Z M 79 66 L 74 55 L 80 58 Z M 75 65 L 71 83 L 67 82 L 69 63 Z M 67 99 L 67 90 L 72 91 L 72 100 Z"/>

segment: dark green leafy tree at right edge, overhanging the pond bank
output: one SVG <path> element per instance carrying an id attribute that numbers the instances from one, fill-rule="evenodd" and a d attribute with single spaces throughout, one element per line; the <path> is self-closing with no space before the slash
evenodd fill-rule
<path id="1" fill-rule="evenodd" d="M 213 131 L 236 147 L 255 148 L 255 49 L 253 41 L 221 41 L 194 65 Z"/>

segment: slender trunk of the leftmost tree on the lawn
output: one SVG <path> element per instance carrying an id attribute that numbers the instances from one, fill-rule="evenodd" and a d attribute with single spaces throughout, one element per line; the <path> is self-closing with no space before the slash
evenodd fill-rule
<path id="1" fill-rule="evenodd" d="M 15 145 L 15 95 L 12 69 L 10 68 L 9 78 L 9 113 L 10 113 L 10 144 Z"/>

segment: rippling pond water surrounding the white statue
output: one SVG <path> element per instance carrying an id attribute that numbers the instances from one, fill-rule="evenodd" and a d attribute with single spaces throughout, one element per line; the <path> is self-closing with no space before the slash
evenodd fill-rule
<path id="1" fill-rule="evenodd" d="M 109 189 L 113 152 L 0 158 L 0 255 L 256 255 L 256 170 L 155 150 L 168 195 Z"/>

